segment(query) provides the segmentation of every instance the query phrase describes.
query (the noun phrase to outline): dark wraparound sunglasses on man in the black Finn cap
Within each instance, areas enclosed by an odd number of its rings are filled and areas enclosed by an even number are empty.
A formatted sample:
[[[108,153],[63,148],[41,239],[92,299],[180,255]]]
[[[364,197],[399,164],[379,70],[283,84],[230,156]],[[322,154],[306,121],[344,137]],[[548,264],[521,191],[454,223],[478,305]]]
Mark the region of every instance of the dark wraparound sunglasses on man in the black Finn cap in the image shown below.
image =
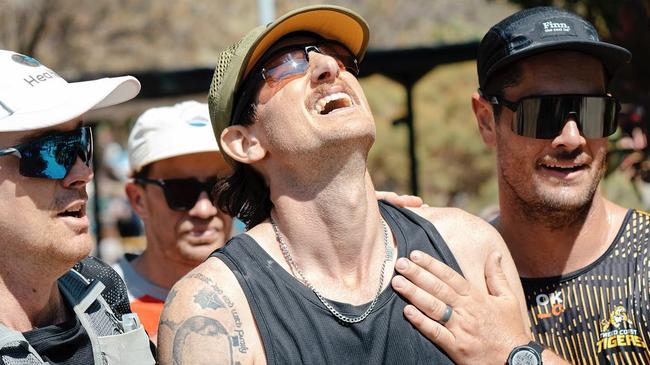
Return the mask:
[[[618,101],[608,95],[540,95],[511,102],[495,96],[490,103],[515,112],[512,131],[520,136],[553,139],[560,135],[569,117],[573,117],[585,138],[604,138],[616,132]]]

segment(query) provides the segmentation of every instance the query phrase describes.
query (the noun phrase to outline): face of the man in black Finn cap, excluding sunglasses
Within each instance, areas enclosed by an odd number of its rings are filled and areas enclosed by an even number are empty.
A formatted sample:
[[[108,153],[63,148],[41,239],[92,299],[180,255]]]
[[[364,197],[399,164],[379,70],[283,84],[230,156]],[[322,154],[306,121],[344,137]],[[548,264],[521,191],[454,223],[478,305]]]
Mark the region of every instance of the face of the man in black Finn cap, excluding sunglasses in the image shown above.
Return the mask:
[[[563,58],[569,62],[549,62],[543,56],[523,62],[524,78],[516,86],[506,88],[506,99],[520,100],[529,95],[545,94],[605,93],[600,62],[573,54]],[[571,62],[572,58],[574,62]],[[513,114],[504,108],[497,123],[496,149],[502,192],[514,197],[524,211],[533,215],[546,216],[550,212],[574,215],[576,211],[588,208],[605,172],[607,138],[585,138],[574,117],[554,139],[521,137],[509,127]],[[575,169],[553,168],[556,166]],[[544,218],[540,221],[548,219]],[[562,221],[564,219],[549,224]],[[570,222],[570,219],[565,221]]]

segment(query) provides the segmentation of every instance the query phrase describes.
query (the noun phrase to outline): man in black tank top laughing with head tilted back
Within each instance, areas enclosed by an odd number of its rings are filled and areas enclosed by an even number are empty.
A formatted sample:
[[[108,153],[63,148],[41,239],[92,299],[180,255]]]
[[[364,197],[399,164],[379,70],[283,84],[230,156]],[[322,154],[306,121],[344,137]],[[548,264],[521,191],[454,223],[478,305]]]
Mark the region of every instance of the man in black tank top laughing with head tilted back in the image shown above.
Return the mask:
[[[529,338],[523,298],[507,289],[516,272],[489,225],[445,209],[434,227],[377,203],[366,168],[375,125],[356,79],[367,43],[357,14],[314,6],[221,53],[209,105],[234,174],[217,201],[250,229],[174,286],[161,363],[450,364],[388,286],[395,259],[422,251],[486,293],[490,272],[502,320],[520,328],[493,341]],[[453,308],[441,309],[454,321]]]

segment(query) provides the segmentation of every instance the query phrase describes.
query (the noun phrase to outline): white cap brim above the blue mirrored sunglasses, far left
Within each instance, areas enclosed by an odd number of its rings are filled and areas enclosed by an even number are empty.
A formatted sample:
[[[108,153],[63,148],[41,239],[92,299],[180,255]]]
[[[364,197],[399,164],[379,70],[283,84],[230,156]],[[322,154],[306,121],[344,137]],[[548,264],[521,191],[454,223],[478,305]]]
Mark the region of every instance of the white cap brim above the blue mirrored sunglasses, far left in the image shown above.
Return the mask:
[[[44,89],[33,95],[29,111],[15,110],[0,120],[0,131],[25,131],[56,126],[84,113],[123,103],[140,92],[140,82],[132,76],[73,82],[60,89]]]

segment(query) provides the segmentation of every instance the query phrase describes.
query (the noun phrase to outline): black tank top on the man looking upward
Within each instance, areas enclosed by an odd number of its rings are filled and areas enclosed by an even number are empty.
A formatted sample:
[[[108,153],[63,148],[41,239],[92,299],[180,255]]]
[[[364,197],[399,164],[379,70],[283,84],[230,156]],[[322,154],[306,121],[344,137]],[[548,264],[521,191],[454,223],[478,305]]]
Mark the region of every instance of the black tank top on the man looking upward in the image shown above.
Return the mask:
[[[399,257],[413,250],[438,258],[460,272],[434,226],[420,216],[380,202],[397,241]],[[339,322],[316,295],[275,262],[250,236],[232,238],[211,256],[235,274],[257,323],[269,365],[453,364],[403,316],[406,302],[389,285],[362,322]],[[374,284],[373,284],[374,285]],[[329,301],[347,316],[368,304]]]

